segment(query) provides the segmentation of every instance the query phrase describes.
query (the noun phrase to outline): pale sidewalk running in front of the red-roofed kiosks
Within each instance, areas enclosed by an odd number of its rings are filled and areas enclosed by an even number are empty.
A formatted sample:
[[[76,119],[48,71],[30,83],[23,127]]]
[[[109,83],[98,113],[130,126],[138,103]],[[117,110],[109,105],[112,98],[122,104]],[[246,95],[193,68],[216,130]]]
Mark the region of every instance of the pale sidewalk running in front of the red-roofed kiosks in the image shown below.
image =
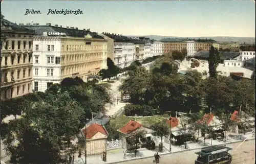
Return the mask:
[[[255,139],[255,137],[252,137],[252,132],[247,132],[246,134],[242,134],[242,140],[240,139],[240,134],[236,134],[233,136],[227,136],[226,137],[226,142],[222,140],[214,140],[212,139],[212,145],[224,145],[224,144],[230,144],[230,143],[236,143],[236,142],[242,142],[243,140],[250,140],[250,139]],[[185,146],[174,146],[172,145],[172,153],[178,153],[182,151],[188,151],[188,150],[194,150],[194,149],[200,149],[203,147],[208,147],[211,144],[211,139],[206,139],[205,140],[206,145],[204,145],[204,140],[203,138],[200,138],[198,143],[193,143],[193,142],[188,142],[187,143],[187,149],[185,149]],[[163,154],[169,154],[169,144],[163,143],[164,150],[163,152],[159,152],[159,155]],[[154,154],[157,152],[155,150],[147,150],[145,148],[138,149],[139,152],[137,153],[137,157],[135,157],[133,154],[126,154],[124,156],[124,152],[117,152],[117,153],[108,153],[106,159],[107,161],[104,162],[101,160],[101,155],[97,156],[88,156],[87,157],[87,164],[106,164],[106,163],[116,163],[116,162],[121,162],[121,161],[126,161],[126,160],[133,160],[133,159],[139,159],[139,158],[148,158],[148,157],[153,157]],[[123,149],[124,151],[124,149]],[[83,159],[83,160],[82,160]],[[82,156],[82,159],[78,158],[75,160],[74,164],[83,164],[84,163],[84,156]]]

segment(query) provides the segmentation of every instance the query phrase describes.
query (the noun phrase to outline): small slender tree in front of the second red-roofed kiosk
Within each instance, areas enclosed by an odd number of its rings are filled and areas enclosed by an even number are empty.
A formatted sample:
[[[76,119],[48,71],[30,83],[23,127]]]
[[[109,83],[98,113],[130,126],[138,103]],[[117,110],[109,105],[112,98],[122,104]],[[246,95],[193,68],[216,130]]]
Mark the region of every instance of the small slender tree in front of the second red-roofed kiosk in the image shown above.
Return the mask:
[[[135,157],[137,154],[137,147],[140,144],[140,138],[144,138],[146,131],[143,128],[137,129],[136,131],[129,134],[129,142],[135,146]]]

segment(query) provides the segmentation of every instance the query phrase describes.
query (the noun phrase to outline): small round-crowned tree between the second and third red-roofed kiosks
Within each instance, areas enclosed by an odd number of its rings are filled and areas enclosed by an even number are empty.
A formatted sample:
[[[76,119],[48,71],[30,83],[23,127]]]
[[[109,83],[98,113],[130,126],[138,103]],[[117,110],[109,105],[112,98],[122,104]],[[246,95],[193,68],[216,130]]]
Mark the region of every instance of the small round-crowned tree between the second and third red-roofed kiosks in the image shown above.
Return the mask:
[[[156,132],[157,136],[161,137],[161,148],[160,150],[162,151],[163,149],[163,136],[169,134],[169,126],[166,123],[166,120],[160,121],[152,125],[152,129]]]

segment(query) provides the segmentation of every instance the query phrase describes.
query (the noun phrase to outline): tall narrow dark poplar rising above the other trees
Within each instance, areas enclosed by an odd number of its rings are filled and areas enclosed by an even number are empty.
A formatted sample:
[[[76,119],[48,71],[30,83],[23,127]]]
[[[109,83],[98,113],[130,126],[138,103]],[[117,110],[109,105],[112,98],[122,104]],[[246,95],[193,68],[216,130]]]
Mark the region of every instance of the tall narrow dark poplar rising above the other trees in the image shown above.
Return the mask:
[[[208,64],[209,64],[209,75],[212,78],[217,78],[217,67],[220,63],[220,55],[218,50],[214,46],[210,46],[209,50],[209,59],[208,59]]]

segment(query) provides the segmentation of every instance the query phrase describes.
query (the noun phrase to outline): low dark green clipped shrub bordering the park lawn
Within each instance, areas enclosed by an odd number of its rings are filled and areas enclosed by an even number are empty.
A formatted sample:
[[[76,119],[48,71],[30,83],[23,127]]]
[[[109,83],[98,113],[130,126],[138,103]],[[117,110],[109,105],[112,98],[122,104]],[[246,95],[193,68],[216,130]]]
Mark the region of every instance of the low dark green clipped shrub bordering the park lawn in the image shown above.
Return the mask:
[[[126,104],[124,106],[124,114],[127,116],[134,116],[137,114],[138,116],[150,116],[155,114],[155,110],[148,105],[133,105]]]

